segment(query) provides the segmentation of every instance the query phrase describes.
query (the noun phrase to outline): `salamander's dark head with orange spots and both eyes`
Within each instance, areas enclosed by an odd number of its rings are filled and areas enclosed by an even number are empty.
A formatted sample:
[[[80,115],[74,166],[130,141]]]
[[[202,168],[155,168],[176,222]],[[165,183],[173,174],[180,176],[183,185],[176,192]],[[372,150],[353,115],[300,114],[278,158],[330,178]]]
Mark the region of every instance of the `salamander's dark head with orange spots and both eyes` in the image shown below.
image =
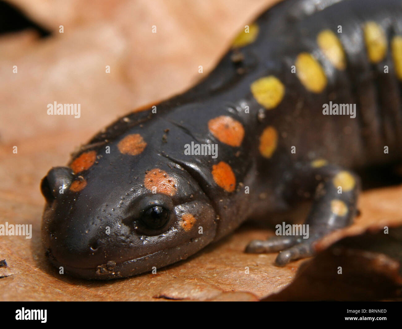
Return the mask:
[[[193,177],[127,136],[109,154],[85,151],[42,180],[43,243],[66,273],[132,276],[185,259],[215,236],[215,212]]]

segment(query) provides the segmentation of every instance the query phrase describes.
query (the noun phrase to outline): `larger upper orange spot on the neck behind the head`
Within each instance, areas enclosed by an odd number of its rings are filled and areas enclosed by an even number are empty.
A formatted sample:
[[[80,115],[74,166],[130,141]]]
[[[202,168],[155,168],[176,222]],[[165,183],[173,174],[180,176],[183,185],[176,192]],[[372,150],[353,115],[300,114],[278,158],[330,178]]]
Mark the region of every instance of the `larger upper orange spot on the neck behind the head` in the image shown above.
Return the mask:
[[[219,141],[230,146],[240,146],[244,137],[243,125],[226,115],[208,121],[208,129]]]

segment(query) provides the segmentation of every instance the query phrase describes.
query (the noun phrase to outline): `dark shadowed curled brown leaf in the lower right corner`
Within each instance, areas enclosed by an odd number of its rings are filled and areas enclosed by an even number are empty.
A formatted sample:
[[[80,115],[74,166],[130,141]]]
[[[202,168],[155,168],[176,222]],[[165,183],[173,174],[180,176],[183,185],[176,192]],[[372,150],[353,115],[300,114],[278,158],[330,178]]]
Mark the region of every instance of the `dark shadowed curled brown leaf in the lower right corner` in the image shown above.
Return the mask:
[[[402,226],[347,236],[304,263],[265,300],[380,300],[402,297]],[[342,273],[339,272],[342,270]]]

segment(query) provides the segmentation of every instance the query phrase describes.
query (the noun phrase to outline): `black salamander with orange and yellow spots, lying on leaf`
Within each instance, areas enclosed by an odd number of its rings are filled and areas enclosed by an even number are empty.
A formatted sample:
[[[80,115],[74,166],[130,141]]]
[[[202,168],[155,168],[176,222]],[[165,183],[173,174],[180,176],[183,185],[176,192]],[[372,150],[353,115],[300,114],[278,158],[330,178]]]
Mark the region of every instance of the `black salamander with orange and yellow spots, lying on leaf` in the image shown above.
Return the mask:
[[[113,279],[170,265],[311,200],[308,236],[250,241],[283,266],[350,225],[356,172],[402,158],[402,2],[287,0],[182,95],[121,117],[41,181],[46,255]],[[306,239],[307,238],[307,239]]]

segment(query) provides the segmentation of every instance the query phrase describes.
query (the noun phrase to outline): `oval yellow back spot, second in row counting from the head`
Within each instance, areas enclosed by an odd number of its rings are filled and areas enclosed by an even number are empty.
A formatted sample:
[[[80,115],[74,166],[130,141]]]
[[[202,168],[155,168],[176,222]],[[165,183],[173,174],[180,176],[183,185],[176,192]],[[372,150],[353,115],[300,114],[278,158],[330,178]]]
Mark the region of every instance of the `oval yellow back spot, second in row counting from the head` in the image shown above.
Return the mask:
[[[303,86],[312,93],[321,93],[327,79],[320,63],[309,53],[299,53],[295,62],[296,74]]]

